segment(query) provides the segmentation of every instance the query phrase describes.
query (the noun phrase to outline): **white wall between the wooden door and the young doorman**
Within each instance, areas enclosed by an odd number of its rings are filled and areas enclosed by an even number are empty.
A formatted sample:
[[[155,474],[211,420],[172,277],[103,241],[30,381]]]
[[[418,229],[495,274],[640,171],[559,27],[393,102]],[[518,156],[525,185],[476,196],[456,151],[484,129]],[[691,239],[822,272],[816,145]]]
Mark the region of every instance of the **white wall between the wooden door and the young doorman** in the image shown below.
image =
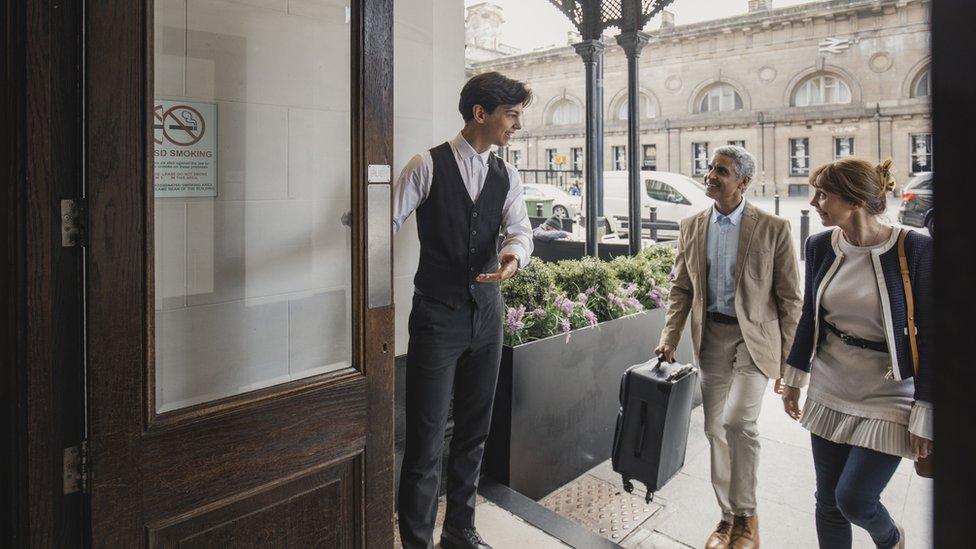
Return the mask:
[[[397,0],[393,12],[393,173],[410,158],[454,137],[464,85],[464,2]],[[396,354],[407,352],[407,319],[420,244],[414,216],[393,242]]]

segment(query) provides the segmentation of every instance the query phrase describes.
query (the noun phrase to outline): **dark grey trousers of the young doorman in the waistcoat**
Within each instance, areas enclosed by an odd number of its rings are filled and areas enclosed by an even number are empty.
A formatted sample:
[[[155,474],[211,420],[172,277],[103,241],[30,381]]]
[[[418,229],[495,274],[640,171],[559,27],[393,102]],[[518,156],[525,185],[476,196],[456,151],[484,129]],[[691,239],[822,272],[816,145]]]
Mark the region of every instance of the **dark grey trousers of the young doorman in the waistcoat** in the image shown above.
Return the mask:
[[[407,348],[406,445],[397,497],[405,548],[433,546],[444,429],[454,399],[445,524],[474,527],[475,497],[502,351],[501,295],[453,309],[415,295]]]

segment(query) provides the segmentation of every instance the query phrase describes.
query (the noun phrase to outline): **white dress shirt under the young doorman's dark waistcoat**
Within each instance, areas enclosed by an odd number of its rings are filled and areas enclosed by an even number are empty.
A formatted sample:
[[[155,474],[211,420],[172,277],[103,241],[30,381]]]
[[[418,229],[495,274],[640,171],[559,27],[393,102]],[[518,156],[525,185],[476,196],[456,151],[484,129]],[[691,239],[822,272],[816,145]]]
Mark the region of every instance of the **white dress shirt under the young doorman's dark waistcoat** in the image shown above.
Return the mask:
[[[491,151],[478,153],[460,133],[450,144],[464,186],[468,189],[471,201],[475,202],[488,178],[488,157]],[[519,177],[518,170],[508,162],[505,162],[505,168],[508,171],[509,188],[502,207],[501,233],[505,235],[505,240],[500,253],[515,254],[519,266],[524,267],[529,264],[532,256],[532,225],[522,198],[522,178]],[[404,166],[393,187],[394,233],[400,231],[403,222],[427,199],[433,180],[434,161],[430,151],[415,155]]]

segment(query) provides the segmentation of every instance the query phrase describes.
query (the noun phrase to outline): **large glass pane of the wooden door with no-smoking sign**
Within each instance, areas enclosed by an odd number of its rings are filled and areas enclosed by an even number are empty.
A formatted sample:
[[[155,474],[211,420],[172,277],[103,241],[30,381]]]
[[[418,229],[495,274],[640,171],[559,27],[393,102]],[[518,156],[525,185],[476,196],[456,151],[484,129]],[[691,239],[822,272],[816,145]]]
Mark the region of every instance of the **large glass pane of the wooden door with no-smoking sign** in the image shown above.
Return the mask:
[[[156,0],[159,413],[349,366],[350,24],[332,0]]]

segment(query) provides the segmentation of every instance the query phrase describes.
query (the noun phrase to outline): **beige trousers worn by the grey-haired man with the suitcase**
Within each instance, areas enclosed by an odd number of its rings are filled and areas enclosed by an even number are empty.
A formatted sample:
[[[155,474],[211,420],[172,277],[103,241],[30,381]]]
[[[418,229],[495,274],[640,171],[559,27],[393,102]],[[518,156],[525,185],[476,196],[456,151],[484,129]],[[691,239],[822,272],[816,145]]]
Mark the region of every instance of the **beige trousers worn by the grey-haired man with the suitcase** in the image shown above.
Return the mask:
[[[756,514],[756,473],[763,392],[769,378],[756,367],[736,324],[705,321],[701,360],[705,436],[712,487],[726,520]]]

